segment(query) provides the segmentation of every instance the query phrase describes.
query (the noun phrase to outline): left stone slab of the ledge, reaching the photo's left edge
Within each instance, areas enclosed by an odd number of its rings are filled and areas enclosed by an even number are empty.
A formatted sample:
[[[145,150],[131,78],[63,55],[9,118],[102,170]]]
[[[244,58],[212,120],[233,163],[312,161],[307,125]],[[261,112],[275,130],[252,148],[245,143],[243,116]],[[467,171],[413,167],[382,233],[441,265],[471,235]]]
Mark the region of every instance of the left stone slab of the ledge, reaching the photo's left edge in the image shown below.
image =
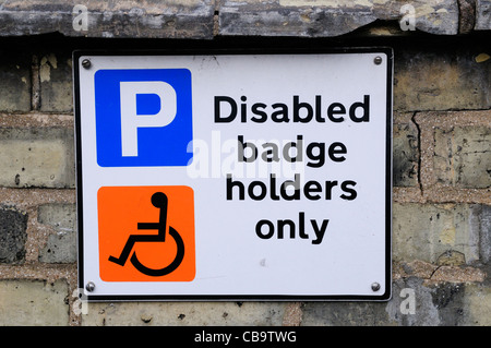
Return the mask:
[[[0,35],[209,38],[211,0],[4,1]]]

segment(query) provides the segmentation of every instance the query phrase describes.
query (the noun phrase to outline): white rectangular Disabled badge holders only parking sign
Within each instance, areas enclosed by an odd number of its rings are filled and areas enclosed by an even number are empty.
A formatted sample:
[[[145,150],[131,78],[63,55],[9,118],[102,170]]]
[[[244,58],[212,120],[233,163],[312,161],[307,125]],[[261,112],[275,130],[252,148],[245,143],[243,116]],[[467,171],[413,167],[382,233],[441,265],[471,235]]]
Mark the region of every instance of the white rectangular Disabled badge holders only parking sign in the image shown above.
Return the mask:
[[[88,300],[391,297],[391,49],[73,67]]]

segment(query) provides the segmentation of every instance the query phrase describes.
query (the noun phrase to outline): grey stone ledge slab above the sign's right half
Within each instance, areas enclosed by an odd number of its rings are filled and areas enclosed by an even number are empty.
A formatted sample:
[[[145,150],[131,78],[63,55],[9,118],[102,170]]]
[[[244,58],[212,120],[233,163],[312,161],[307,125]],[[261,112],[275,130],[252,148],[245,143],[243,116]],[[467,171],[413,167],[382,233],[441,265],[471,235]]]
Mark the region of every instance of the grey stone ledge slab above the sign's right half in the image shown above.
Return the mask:
[[[457,1],[418,0],[410,9],[403,9],[403,4],[391,0],[226,0],[219,8],[219,34],[338,36],[376,20],[406,21],[408,16],[412,17],[412,29],[458,33]]]

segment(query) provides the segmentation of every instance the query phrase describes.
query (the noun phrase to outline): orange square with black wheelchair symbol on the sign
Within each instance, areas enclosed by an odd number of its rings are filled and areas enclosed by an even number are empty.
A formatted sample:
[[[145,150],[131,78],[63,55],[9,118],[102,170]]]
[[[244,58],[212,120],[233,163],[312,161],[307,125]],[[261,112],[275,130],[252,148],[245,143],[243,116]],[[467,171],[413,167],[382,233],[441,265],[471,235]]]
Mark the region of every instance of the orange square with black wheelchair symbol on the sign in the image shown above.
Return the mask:
[[[97,192],[105,281],[191,281],[194,195],[189,187],[103,187]]]

